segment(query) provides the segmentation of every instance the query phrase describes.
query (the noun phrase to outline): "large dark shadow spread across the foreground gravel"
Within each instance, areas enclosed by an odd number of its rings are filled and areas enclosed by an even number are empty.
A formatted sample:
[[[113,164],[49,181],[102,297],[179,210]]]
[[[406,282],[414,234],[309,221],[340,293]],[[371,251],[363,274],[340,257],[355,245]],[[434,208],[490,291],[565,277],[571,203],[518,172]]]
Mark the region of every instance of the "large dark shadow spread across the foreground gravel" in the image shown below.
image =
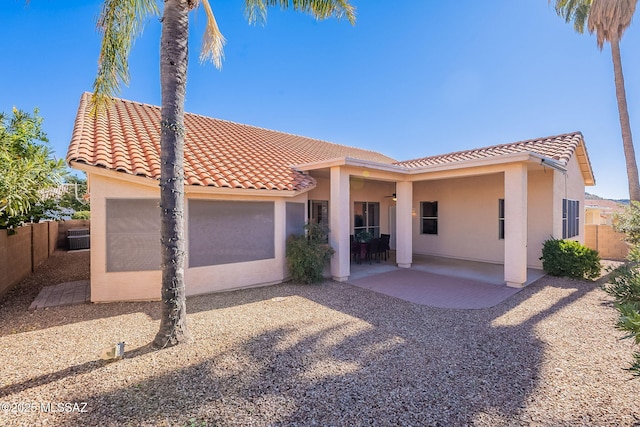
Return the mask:
[[[472,425],[486,414],[517,420],[543,360],[535,326],[599,286],[547,282],[485,310],[435,309],[337,283],[194,298],[190,305],[200,311],[235,306],[238,298],[249,304],[266,295],[296,295],[341,320],[318,330],[312,320],[292,319],[215,358],[136,386],[76,394],[72,399],[93,402],[91,413],[65,421]],[[547,287],[562,295],[552,305],[520,323],[495,324]]]

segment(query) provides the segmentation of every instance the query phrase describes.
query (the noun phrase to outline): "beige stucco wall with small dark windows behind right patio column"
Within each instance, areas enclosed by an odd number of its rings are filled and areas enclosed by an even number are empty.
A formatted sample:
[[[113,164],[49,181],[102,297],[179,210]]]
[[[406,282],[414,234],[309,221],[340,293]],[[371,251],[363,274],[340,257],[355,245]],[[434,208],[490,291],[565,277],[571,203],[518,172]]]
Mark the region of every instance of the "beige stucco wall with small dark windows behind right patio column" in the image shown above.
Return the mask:
[[[528,171],[527,265],[541,268],[542,244],[553,234],[551,189],[556,172]],[[504,194],[504,174],[492,173],[414,183],[413,251],[484,262],[504,262],[504,240],[498,238],[498,199]],[[438,234],[420,233],[420,202],[438,201]],[[560,209],[562,205],[560,204]],[[561,219],[560,212],[560,219]],[[518,218],[505,218],[505,221]]]

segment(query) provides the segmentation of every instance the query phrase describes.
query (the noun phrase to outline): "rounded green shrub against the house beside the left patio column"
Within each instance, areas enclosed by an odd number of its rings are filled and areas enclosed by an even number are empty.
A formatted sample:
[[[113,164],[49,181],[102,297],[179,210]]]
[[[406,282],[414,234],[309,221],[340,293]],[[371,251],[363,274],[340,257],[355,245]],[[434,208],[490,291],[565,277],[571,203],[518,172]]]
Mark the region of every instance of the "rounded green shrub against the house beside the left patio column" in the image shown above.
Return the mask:
[[[291,235],[287,239],[287,265],[291,278],[300,283],[321,282],[325,265],[334,250],[327,241],[328,231],[319,224],[305,225],[305,234]]]

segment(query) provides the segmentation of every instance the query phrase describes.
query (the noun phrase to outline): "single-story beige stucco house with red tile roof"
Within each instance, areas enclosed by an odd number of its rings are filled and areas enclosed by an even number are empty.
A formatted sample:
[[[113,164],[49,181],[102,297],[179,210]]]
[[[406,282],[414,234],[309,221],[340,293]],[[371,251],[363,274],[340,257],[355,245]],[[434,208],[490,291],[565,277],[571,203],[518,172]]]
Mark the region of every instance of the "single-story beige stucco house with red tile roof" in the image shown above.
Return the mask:
[[[90,99],[67,161],[91,194],[91,299],[158,299],[160,108],[116,99],[94,117]],[[579,132],[399,162],[196,114],[185,126],[188,295],[286,280],[286,238],[306,221],[328,224],[338,281],[362,231],[391,234],[400,267],[414,254],[503,264],[516,287],[545,240],[584,239],[595,181]]]

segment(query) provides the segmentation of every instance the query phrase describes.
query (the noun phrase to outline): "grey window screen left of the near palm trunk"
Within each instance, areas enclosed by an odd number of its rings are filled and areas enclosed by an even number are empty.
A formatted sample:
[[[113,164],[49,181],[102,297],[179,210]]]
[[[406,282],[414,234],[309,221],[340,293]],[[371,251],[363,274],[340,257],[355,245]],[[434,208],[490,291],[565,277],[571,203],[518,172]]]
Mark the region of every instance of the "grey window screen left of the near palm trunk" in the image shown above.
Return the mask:
[[[160,269],[159,203],[107,199],[107,272]]]

